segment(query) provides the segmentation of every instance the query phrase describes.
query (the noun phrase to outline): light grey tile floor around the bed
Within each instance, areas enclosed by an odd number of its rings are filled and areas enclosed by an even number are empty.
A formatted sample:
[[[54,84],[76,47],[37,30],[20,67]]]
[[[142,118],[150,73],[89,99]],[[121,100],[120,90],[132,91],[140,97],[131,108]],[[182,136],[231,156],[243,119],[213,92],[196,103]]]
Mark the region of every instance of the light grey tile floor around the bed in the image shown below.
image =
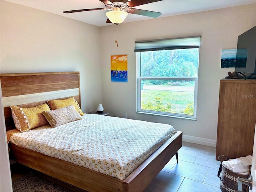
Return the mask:
[[[215,147],[183,142],[178,151],[144,192],[221,192],[217,177],[220,162],[215,160]],[[11,165],[12,180],[30,171]]]

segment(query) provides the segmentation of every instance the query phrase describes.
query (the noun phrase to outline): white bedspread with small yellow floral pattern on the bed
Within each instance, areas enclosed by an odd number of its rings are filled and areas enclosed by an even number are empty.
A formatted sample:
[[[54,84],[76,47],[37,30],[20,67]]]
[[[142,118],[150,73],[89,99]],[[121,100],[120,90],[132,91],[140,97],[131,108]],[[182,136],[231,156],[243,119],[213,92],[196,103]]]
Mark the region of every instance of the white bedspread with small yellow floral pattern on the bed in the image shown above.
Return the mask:
[[[168,124],[97,114],[15,133],[11,143],[123,180],[175,134]]]

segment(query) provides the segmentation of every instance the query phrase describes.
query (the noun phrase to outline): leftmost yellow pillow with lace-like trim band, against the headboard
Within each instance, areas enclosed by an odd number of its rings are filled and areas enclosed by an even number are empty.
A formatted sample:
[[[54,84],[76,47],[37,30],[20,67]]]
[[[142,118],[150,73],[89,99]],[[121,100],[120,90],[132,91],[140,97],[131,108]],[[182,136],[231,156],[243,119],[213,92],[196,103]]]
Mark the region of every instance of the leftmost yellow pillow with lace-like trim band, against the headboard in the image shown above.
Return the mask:
[[[21,108],[14,105],[10,107],[15,127],[21,132],[48,124],[48,121],[42,114],[42,111],[50,111],[50,108],[46,103],[29,108]]]

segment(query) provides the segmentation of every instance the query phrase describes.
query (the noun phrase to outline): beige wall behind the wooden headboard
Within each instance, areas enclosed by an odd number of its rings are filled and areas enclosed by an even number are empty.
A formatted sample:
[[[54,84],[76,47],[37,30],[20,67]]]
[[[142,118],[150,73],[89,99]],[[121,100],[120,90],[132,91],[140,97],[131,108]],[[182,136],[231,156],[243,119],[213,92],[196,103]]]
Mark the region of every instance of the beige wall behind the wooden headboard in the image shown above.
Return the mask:
[[[82,110],[95,110],[102,102],[100,28],[0,2],[0,72],[80,71]]]

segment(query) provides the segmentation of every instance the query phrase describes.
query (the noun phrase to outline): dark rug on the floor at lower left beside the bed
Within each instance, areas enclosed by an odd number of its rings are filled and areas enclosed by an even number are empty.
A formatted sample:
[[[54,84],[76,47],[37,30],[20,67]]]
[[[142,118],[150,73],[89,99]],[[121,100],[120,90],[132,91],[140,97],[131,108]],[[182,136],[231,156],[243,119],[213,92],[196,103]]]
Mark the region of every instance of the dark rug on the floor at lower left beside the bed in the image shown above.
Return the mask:
[[[13,192],[72,192],[32,172],[12,182]]]

